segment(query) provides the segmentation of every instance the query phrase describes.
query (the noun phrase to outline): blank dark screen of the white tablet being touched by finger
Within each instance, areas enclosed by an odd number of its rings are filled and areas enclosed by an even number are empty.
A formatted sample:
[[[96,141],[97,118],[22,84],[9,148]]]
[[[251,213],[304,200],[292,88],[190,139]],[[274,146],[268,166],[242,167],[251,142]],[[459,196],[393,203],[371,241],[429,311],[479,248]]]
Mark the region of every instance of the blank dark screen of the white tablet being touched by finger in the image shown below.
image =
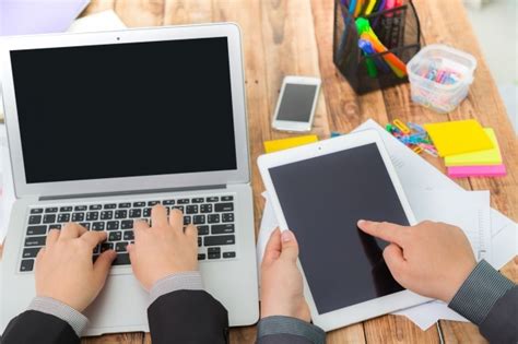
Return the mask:
[[[384,261],[388,244],[356,226],[409,225],[375,143],[269,170],[320,315],[403,289]]]

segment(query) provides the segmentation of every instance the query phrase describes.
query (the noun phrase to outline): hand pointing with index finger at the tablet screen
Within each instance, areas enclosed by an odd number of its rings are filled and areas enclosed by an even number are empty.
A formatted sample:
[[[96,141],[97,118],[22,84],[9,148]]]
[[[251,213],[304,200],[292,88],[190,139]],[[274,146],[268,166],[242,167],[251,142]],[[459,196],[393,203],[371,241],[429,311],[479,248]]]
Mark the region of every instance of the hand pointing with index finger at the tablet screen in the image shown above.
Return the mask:
[[[358,227],[391,242],[385,261],[396,281],[423,296],[449,303],[476,265],[463,232],[429,221],[405,227],[390,223],[358,221]]]

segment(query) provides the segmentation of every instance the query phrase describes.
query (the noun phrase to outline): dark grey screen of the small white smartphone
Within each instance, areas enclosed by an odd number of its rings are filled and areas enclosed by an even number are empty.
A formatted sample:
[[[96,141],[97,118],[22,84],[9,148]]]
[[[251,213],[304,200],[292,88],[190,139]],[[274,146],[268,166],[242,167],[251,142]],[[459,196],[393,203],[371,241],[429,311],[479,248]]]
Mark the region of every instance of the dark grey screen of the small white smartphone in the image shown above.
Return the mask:
[[[317,85],[286,83],[276,119],[308,122],[316,93]]]

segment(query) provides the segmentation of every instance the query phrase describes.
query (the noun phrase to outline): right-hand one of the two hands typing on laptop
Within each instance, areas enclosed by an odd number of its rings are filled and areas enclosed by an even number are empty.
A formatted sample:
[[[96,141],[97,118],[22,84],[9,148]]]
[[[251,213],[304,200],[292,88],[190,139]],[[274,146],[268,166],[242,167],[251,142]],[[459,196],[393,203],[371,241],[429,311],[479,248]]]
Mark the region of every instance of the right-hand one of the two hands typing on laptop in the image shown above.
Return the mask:
[[[183,213],[174,209],[167,216],[163,205],[152,209],[151,223],[150,228],[145,221],[136,221],[134,244],[127,247],[133,273],[146,290],[167,275],[198,270],[196,226],[184,230]]]

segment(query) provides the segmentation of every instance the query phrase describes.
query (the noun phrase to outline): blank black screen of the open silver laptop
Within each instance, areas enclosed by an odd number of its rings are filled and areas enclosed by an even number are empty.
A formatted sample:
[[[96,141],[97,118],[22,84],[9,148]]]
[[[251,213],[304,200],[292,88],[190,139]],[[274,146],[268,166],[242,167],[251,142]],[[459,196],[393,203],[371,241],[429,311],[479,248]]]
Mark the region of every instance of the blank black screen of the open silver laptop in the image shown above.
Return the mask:
[[[11,51],[27,183],[235,170],[226,37]]]

